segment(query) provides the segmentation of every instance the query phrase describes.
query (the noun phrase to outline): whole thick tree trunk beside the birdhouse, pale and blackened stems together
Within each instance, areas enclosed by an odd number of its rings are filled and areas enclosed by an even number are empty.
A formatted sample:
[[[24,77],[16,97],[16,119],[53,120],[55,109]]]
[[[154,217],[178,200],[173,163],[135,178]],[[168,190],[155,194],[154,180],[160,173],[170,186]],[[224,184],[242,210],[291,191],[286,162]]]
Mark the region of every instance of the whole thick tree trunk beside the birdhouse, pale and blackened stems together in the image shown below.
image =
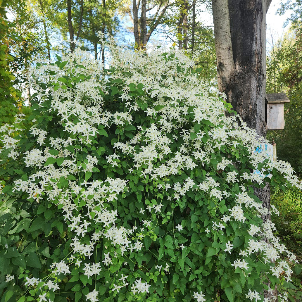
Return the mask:
[[[266,12],[271,0],[212,0],[218,87],[233,109],[265,137]],[[270,187],[254,188],[270,210]],[[262,217],[263,221],[270,215]],[[267,291],[265,297],[271,297]],[[273,295],[276,295],[276,289]]]

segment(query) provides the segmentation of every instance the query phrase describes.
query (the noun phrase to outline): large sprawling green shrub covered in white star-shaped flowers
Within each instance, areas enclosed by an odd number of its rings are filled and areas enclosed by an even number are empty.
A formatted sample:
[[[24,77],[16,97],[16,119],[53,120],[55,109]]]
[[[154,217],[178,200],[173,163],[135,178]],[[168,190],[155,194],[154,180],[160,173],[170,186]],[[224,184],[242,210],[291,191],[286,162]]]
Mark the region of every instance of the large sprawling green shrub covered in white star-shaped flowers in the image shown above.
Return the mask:
[[[293,287],[300,267],[251,186],[301,187],[290,165],[254,152],[255,132],[181,51],[108,47],[110,69],[78,50],[37,63],[33,127],[1,127],[5,302],[263,301],[268,280]]]

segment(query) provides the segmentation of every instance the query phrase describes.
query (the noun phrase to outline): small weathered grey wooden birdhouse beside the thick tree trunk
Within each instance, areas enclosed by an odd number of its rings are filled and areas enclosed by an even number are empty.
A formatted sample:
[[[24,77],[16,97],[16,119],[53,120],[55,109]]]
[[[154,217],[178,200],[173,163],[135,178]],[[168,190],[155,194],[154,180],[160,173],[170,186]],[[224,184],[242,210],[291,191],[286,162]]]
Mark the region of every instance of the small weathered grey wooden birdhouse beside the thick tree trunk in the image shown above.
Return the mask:
[[[289,103],[285,93],[267,93],[266,103],[266,124],[267,130],[284,129],[284,103]]]

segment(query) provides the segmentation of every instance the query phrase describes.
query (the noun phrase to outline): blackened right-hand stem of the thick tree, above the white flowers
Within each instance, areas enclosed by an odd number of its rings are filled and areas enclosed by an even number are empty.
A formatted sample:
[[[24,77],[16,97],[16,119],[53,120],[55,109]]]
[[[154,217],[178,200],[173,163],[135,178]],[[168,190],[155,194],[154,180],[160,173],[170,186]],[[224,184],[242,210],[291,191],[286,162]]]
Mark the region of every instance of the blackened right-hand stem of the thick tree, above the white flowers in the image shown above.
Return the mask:
[[[229,14],[235,68],[225,93],[243,121],[265,137],[265,10],[261,0],[229,0]]]

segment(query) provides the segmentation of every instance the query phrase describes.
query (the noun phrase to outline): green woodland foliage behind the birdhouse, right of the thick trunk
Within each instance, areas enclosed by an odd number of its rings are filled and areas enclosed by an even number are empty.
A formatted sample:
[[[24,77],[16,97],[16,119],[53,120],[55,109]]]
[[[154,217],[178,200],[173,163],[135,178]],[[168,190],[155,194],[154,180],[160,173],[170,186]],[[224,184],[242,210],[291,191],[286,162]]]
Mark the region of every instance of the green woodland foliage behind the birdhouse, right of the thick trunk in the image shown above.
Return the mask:
[[[273,47],[267,58],[268,93],[286,92],[290,103],[284,105],[284,130],[268,131],[277,143],[277,157],[291,163],[302,173],[302,39],[292,29]]]

